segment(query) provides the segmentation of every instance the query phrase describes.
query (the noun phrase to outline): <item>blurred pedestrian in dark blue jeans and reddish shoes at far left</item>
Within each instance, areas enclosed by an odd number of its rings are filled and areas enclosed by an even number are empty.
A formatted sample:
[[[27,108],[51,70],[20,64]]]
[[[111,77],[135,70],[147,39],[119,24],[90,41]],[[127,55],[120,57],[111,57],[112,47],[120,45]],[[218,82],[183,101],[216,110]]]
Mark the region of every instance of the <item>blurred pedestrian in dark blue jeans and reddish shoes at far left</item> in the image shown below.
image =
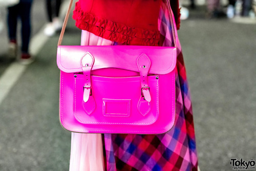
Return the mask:
[[[29,41],[31,34],[31,6],[32,0],[20,0],[17,5],[8,7],[7,23],[9,35],[9,55],[17,56],[17,20],[20,18],[22,22],[22,53],[19,62],[29,64],[33,61],[29,54]]]

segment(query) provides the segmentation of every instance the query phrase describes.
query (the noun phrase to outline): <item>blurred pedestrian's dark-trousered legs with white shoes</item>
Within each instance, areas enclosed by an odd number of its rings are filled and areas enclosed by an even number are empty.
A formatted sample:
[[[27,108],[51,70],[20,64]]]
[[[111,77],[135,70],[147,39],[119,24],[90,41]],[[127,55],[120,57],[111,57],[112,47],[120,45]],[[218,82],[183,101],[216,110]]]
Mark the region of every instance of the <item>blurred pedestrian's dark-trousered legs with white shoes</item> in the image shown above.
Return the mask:
[[[45,28],[47,36],[53,36],[56,31],[60,30],[62,24],[59,20],[61,0],[46,0],[48,24]]]

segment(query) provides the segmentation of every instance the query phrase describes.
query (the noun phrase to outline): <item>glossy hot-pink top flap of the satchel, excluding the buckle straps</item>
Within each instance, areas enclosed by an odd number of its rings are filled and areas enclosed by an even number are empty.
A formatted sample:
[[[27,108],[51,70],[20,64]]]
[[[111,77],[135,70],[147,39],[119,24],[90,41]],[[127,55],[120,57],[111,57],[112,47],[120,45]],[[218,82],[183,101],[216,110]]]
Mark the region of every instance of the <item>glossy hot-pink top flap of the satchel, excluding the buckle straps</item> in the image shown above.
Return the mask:
[[[117,68],[139,72],[137,58],[145,54],[151,60],[148,73],[167,74],[176,66],[175,47],[149,46],[58,46],[57,65],[66,73],[82,72],[81,57],[90,52],[95,61],[92,70]]]

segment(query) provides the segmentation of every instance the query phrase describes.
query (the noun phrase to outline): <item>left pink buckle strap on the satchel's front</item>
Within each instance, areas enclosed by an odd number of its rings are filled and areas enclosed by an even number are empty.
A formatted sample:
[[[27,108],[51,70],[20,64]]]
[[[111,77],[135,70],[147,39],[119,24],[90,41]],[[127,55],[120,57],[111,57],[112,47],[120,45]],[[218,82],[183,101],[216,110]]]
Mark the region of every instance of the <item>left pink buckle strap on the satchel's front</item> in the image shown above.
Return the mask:
[[[90,52],[87,52],[81,57],[80,65],[84,77],[84,86],[83,86],[83,101],[87,102],[89,97],[92,96],[91,89],[91,70],[94,64],[94,57]]]

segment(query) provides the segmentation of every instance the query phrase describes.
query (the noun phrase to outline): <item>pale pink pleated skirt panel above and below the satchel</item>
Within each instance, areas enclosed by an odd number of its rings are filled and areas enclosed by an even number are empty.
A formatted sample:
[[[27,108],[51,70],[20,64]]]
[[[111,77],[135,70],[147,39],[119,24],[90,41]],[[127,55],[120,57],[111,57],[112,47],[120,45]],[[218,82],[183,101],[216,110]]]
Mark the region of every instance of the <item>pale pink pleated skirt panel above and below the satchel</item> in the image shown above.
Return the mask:
[[[107,46],[113,41],[82,30],[82,46]],[[104,170],[103,146],[101,134],[71,134],[70,171]]]

